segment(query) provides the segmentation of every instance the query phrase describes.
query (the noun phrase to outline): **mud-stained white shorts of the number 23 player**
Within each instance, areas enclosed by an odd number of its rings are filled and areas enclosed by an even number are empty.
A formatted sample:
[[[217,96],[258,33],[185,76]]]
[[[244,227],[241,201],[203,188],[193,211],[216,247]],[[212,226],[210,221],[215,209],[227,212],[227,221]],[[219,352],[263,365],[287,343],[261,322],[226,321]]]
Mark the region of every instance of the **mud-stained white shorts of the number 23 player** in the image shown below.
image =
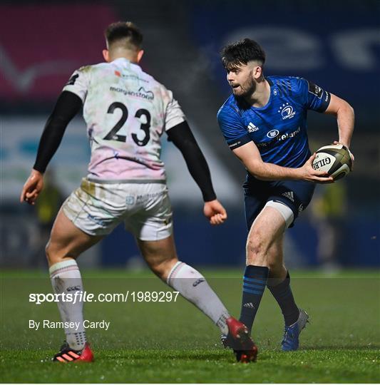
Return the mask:
[[[95,183],[83,178],[62,208],[89,235],[107,235],[122,221],[139,240],[163,240],[173,231],[168,187],[163,183]]]

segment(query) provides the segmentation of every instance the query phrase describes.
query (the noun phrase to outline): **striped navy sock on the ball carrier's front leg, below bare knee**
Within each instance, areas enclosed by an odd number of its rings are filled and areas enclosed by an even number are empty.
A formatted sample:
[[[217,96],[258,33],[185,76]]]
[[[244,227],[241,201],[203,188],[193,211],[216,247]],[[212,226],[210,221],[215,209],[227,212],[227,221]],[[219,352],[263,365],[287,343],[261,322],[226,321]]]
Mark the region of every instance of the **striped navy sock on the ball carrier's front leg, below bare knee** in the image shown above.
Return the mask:
[[[267,285],[268,274],[269,269],[267,267],[252,265],[245,267],[240,322],[250,330]]]

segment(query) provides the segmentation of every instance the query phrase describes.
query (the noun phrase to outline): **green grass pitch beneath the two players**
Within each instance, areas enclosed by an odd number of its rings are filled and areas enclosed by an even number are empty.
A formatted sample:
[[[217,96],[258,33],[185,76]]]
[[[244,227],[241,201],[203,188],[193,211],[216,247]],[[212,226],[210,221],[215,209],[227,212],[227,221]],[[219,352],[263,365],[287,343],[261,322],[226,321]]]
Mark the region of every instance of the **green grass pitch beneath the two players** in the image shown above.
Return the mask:
[[[232,314],[240,310],[241,272],[203,270]],[[255,364],[238,364],[222,349],[220,333],[182,298],[170,303],[85,305],[86,319],[111,322],[108,331],[88,330],[96,361],[50,361],[64,339],[61,329],[29,329],[29,319],[58,321],[56,304],[29,303],[31,292],[51,292],[46,274],[3,272],[1,278],[2,382],[269,383],[380,381],[379,272],[292,274],[297,302],[311,323],[299,351],[279,350],[282,315],[265,292],[255,321],[260,354]],[[167,290],[149,272],[84,272],[88,292]]]

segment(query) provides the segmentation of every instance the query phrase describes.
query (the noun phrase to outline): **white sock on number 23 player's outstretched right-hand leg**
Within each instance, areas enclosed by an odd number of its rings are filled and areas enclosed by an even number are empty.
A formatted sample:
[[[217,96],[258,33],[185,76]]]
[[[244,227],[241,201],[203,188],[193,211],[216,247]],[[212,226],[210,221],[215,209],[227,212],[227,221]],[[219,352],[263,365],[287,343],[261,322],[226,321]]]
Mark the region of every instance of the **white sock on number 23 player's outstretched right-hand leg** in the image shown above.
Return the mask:
[[[228,334],[226,319],[230,314],[200,272],[184,262],[177,262],[166,283],[210,317],[223,334]]]

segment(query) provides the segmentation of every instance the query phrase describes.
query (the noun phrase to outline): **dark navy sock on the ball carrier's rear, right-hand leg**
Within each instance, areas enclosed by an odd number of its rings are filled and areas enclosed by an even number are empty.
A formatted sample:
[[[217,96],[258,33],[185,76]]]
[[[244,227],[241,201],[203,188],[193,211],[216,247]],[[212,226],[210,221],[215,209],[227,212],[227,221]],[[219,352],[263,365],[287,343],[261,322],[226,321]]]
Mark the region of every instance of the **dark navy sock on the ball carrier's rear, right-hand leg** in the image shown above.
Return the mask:
[[[287,277],[280,284],[277,284],[276,286],[269,286],[268,284],[268,289],[272,293],[274,299],[276,299],[279,307],[281,307],[285,325],[290,326],[294,324],[294,322],[297,322],[299,308],[294,302],[292,289],[290,289],[289,272],[287,272]]]

